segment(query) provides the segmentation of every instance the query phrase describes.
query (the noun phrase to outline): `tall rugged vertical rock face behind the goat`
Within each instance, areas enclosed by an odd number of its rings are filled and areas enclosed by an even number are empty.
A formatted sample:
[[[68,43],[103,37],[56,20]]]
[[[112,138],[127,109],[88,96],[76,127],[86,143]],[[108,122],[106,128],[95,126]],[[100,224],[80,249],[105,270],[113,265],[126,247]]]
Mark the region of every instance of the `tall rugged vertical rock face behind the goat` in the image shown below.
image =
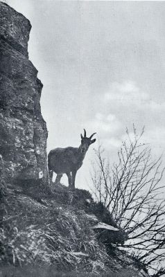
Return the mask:
[[[0,154],[10,184],[48,177],[42,82],[28,60],[30,30],[26,17],[0,3]]]

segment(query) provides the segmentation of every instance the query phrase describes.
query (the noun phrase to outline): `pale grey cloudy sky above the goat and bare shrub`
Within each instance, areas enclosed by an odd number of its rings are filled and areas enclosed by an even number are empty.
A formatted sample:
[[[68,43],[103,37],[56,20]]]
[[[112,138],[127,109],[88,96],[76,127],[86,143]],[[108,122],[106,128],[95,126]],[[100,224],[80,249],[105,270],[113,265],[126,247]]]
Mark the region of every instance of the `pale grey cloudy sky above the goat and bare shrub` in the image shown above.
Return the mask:
[[[47,148],[80,145],[97,133],[116,159],[125,128],[139,132],[153,157],[165,149],[165,2],[6,0],[32,25],[28,52],[42,80]],[[93,144],[78,171],[86,188]],[[164,157],[163,157],[164,159]],[[63,179],[67,184],[67,179]]]

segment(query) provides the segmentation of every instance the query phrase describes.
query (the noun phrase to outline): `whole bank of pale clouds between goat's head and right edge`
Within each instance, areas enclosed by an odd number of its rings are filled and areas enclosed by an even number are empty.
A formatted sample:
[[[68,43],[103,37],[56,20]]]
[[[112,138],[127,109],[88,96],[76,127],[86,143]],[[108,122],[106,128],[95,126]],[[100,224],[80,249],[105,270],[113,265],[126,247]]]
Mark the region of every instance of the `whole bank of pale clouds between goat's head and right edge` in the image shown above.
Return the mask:
[[[133,123],[139,131],[145,125],[141,142],[149,143],[153,154],[161,154],[165,149],[165,102],[158,101],[135,82],[113,82],[100,103],[101,112],[96,113],[87,126],[92,132],[98,133],[103,147],[112,152],[119,149],[121,142],[126,139],[125,127],[130,128],[132,137]]]

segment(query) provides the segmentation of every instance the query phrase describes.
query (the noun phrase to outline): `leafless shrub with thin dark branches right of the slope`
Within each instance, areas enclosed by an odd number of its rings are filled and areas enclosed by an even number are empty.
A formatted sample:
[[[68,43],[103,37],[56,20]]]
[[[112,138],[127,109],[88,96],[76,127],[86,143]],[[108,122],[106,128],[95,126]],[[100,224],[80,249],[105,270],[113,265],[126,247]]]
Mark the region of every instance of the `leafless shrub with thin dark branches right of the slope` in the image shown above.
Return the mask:
[[[141,143],[133,127],[118,152],[118,162],[110,168],[101,146],[92,165],[93,193],[109,209],[128,240],[125,248],[135,253],[149,268],[165,259],[165,202],[162,185],[162,157],[153,159],[150,146]],[[159,270],[159,269],[157,269]],[[161,269],[162,275],[165,273]],[[159,275],[159,276],[162,276]]]

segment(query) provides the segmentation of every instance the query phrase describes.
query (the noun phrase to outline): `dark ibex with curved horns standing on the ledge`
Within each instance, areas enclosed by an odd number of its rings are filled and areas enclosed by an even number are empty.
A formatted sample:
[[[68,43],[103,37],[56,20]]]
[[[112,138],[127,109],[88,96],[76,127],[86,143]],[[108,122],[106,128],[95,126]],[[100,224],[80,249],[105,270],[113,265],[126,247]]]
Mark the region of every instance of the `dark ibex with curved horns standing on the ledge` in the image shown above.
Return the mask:
[[[79,148],[69,146],[67,148],[55,148],[49,152],[48,168],[51,181],[53,178],[53,172],[57,174],[55,184],[60,182],[62,175],[65,173],[68,177],[69,188],[74,190],[76,173],[83,165],[83,159],[85,158],[89,145],[96,141],[96,139],[92,139],[94,134],[87,138],[84,129],[84,136],[81,134],[81,144]]]

